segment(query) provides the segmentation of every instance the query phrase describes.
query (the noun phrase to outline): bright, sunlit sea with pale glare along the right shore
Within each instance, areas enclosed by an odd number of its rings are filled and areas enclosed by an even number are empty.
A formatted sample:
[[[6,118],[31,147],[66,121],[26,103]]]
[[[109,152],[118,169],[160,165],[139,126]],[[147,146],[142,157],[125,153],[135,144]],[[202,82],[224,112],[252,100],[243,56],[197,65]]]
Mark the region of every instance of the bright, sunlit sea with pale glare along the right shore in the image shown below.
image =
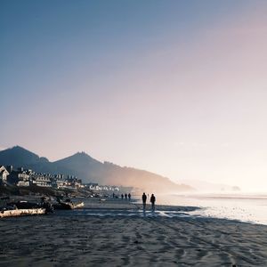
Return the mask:
[[[189,213],[192,216],[267,225],[267,193],[169,194],[156,197],[161,205],[199,207]]]

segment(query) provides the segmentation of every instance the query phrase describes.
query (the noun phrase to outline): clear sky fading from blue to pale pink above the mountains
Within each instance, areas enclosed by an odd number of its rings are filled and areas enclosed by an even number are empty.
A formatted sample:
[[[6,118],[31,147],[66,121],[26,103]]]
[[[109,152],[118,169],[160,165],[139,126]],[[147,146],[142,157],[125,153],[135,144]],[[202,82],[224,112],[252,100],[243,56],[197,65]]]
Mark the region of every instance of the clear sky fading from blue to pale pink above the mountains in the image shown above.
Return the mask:
[[[267,190],[267,2],[0,2],[0,149]]]

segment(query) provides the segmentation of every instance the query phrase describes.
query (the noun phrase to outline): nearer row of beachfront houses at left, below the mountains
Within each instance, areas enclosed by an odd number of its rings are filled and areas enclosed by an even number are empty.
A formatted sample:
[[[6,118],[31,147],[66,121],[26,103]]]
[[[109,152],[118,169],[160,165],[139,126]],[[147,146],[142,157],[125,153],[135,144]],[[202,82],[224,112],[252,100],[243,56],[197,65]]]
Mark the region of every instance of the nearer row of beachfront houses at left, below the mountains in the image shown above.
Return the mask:
[[[0,184],[12,184],[16,186],[42,186],[51,188],[83,188],[82,180],[76,176],[63,174],[36,173],[23,167],[14,169],[12,166],[0,165]]]

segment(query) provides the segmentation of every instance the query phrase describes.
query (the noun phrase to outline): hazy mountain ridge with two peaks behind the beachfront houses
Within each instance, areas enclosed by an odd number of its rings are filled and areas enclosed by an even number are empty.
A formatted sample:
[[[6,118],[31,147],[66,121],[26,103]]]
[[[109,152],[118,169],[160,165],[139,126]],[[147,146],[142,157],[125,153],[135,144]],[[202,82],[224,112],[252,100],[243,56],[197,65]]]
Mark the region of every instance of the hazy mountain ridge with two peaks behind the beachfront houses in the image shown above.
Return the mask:
[[[148,171],[109,162],[101,163],[85,152],[50,162],[47,158],[40,158],[35,153],[16,146],[0,151],[0,165],[23,166],[41,173],[76,175],[83,182],[129,186],[154,192],[192,190],[188,185],[177,184]]]

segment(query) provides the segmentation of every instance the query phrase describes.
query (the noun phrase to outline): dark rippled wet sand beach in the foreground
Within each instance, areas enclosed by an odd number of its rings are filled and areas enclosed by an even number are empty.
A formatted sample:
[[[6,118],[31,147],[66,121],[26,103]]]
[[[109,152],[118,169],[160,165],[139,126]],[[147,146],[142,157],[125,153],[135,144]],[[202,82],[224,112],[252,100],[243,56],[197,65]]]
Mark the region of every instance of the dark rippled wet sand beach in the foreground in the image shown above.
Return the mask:
[[[267,265],[266,225],[188,214],[194,207],[147,208],[89,200],[83,210],[5,218],[0,265]]]

